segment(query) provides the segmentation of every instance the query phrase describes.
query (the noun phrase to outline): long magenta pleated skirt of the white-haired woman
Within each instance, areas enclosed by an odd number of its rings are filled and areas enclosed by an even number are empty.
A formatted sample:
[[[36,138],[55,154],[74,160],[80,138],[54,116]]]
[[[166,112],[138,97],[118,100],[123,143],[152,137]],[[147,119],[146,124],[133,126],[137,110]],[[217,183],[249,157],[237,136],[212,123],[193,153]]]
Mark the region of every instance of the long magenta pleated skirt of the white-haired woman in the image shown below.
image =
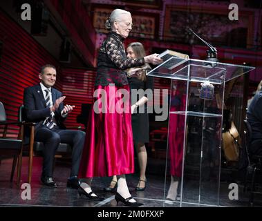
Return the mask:
[[[103,90],[103,93],[101,91]],[[86,130],[86,141],[79,166],[79,177],[104,177],[134,172],[133,133],[129,100],[123,104],[120,91],[129,94],[129,85],[96,86],[95,91],[105,96],[98,107],[103,112],[95,113],[99,98],[94,99]],[[115,95],[116,96],[112,96]],[[109,96],[110,95],[110,96]],[[121,111],[114,111],[118,108]],[[97,109],[95,109],[97,110]],[[110,113],[111,112],[111,113]]]

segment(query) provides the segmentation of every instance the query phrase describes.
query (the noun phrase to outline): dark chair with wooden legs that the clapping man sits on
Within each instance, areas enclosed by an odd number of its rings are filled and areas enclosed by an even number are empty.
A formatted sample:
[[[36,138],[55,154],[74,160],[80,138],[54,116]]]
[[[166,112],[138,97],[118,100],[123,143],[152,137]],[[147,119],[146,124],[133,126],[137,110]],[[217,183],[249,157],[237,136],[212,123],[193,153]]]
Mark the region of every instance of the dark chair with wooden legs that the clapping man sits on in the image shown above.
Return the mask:
[[[30,184],[32,178],[32,160],[34,156],[41,156],[44,148],[42,142],[35,141],[35,123],[26,122],[26,117],[24,113],[24,105],[21,105],[18,113],[19,122],[24,122],[24,150],[28,150],[28,183]],[[77,127],[81,129],[81,126]],[[57,152],[55,154],[55,160],[57,158],[67,158],[71,159],[72,147],[70,144],[60,143]],[[55,165],[55,162],[54,164]]]

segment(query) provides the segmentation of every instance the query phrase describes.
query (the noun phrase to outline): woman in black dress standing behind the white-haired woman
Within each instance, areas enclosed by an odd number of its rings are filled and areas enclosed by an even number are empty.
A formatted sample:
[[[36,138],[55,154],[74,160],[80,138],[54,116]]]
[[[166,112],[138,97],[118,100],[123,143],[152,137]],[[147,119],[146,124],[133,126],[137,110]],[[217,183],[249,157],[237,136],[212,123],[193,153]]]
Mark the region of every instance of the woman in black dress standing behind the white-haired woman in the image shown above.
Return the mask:
[[[133,42],[127,47],[127,57],[136,59],[144,56],[144,47],[140,42]],[[146,70],[150,69],[149,64],[145,64],[141,66],[139,70],[138,67],[127,70],[131,89],[133,142],[138,155],[138,164],[140,166],[140,178],[135,188],[136,191],[144,191],[147,182],[145,175],[147,167],[147,150],[144,143],[149,142],[149,115],[147,113],[147,102],[151,96],[147,96],[147,91],[149,95],[153,95],[153,77],[146,76]],[[137,93],[138,90],[140,90],[140,92],[142,91],[142,94]],[[113,176],[110,186],[106,187],[104,191],[113,191],[116,183],[117,177]]]

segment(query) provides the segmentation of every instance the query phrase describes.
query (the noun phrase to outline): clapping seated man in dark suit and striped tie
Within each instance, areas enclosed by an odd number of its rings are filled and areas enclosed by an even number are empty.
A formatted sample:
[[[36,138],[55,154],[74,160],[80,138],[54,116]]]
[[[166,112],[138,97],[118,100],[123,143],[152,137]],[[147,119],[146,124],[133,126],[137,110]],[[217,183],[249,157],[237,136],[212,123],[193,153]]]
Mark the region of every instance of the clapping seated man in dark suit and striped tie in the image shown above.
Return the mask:
[[[67,186],[77,189],[80,182],[77,178],[79,163],[84,146],[83,131],[66,130],[63,122],[75,106],[66,104],[65,96],[53,88],[56,80],[55,66],[46,64],[41,67],[39,79],[41,82],[24,90],[24,108],[28,121],[36,122],[35,141],[44,143],[44,160],[41,182],[47,186],[57,187],[53,180],[53,160],[59,143],[71,144],[72,169]]]

